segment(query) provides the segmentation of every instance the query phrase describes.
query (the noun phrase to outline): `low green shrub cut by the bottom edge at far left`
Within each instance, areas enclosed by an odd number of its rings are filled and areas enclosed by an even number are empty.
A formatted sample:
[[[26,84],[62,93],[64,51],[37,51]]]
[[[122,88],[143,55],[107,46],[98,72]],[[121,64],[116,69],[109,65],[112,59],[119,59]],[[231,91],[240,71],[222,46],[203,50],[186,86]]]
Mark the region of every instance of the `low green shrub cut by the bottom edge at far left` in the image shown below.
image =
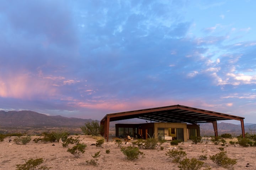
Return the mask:
[[[43,158],[29,159],[24,164],[16,165],[16,170],[49,170],[47,166],[40,166],[43,163]]]

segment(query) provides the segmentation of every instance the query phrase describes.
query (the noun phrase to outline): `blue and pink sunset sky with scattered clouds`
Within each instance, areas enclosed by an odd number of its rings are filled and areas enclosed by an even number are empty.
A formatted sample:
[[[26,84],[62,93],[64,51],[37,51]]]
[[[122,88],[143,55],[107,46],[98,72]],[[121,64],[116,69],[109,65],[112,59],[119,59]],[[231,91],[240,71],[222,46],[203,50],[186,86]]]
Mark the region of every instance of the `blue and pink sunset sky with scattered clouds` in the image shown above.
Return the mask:
[[[0,2],[0,110],[180,104],[256,123],[256,1]]]

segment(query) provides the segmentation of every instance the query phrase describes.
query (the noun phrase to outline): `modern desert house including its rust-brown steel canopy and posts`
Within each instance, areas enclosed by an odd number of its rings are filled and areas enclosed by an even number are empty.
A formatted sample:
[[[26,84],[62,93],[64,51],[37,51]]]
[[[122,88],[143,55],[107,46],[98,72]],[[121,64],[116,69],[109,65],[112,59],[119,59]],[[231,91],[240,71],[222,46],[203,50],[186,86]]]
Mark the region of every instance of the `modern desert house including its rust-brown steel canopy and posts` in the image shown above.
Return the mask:
[[[207,111],[182,105],[107,114],[101,120],[102,136],[108,141],[110,121],[140,118],[150,121],[143,124],[116,124],[116,136],[137,138],[154,137],[165,140],[187,141],[192,136],[200,136],[198,123],[212,123],[214,134],[218,136],[217,120],[239,120],[242,136],[245,137],[244,118],[224,113]],[[153,121],[153,123],[151,123]]]

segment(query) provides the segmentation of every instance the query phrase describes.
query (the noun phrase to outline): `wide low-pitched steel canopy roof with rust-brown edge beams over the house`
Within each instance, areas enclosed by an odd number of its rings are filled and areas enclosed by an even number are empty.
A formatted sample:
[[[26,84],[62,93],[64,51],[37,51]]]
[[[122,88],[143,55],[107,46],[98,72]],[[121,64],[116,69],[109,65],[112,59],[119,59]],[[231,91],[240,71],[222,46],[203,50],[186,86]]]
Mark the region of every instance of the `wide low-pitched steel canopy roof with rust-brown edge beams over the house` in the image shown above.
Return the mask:
[[[182,105],[172,105],[135,111],[107,114],[102,121],[109,117],[110,121],[140,118],[157,122],[171,123],[207,123],[217,120],[241,120],[243,117],[207,111]]]

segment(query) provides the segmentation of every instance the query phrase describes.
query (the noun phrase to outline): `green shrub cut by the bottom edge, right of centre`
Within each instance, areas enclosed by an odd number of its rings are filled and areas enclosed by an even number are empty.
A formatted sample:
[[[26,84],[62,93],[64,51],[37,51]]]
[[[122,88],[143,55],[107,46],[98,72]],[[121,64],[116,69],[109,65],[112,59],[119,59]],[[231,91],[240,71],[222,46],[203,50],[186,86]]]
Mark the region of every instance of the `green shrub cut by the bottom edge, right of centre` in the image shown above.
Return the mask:
[[[196,158],[185,158],[180,161],[178,168],[180,170],[199,170],[203,167],[204,162],[197,160]]]

